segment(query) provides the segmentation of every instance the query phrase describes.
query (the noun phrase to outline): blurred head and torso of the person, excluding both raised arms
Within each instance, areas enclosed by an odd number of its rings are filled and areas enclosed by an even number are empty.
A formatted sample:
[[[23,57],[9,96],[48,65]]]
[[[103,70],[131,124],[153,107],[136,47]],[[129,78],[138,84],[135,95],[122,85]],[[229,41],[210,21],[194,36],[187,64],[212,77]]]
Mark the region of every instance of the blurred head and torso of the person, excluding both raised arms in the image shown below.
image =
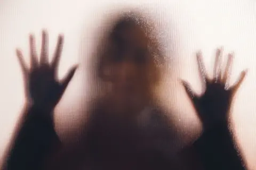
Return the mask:
[[[84,164],[96,169],[179,167],[171,151],[174,132],[154,103],[152,88],[161,72],[149,52],[151,43],[135,18],[124,16],[114,24],[98,70],[111,90],[95,104],[79,144],[68,154],[61,152],[66,158],[53,159],[53,164],[61,164],[53,169]]]

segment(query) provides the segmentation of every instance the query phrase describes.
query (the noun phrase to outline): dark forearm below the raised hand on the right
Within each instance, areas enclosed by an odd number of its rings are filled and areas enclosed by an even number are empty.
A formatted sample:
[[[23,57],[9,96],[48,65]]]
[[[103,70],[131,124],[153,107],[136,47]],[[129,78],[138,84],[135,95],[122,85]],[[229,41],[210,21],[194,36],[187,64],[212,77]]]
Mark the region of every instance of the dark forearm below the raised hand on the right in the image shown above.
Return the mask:
[[[206,130],[194,145],[206,169],[245,169],[226,123]]]

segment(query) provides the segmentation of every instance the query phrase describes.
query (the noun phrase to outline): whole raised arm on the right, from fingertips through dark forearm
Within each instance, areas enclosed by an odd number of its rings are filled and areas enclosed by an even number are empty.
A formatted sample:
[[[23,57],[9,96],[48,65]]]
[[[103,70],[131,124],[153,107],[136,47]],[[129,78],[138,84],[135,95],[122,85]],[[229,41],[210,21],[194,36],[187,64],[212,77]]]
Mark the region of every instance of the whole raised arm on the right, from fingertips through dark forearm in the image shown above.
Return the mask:
[[[203,134],[194,143],[204,169],[245,169],[241,157],[235,148],[233,137],[229,131],[229,111],[235,92],[246,75],[246,70],[240,75],[238,81],[227,88],[230,66],[233,54],[228,55],[226,69],[221,77],[222,48],[217,50],[214,78],[206,74],[201,52],[197,54],[199,73],[205,84],[205,92],[197,96],[190,85],[182,81],[186,92],[191,99],[198,117],[203,123]]]

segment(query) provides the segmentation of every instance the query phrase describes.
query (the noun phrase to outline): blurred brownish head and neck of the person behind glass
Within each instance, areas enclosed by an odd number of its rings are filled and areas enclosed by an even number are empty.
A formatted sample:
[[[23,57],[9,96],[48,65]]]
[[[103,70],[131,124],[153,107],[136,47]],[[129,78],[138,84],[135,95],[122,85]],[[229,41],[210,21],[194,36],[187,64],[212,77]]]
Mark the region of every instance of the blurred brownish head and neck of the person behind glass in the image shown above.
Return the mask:
[[[99,61],[98,75],[111,84],[111,107],[118,112],[138,111],[149,105],[161,69],[158,42],[150,37],[149,26],[139,15],[123,14],[109,33],[105,53]]]

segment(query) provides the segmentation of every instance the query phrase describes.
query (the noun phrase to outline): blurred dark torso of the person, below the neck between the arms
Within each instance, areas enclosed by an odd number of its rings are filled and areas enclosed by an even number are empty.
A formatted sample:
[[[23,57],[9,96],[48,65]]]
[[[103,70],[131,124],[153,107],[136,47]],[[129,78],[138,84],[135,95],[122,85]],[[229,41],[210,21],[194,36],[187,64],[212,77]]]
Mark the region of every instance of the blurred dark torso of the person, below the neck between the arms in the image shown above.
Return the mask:
[[[52,159],[52,169],[185,169],[186,160],[175,155],[175,133],[159,109],[145,107],[137,122],[107,115],[98,107],[79,144]]]

